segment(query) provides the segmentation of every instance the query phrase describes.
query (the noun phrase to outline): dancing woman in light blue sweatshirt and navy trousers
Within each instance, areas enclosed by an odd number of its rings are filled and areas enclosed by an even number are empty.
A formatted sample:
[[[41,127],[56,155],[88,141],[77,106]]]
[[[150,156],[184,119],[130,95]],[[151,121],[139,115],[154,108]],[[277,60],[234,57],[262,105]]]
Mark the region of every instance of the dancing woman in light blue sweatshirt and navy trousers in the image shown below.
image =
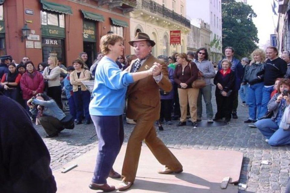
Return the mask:
[[[123,37],[108,34],[101,38],[100,49],[104,57],[95,72],[93,99],[89,112],[99,139],[99,149],[94,176],[89,188],[93,190],[114,191],[107,184],[107,178],[118,177],[112,166],[124,141],[123,110],[127,86],[147,76],[159,74],[161,65],[153,65],[149,70],[129,73],[121,71],[116,64],[118,56],[123,55]],[[139,61],[137,61],[139,62]]]

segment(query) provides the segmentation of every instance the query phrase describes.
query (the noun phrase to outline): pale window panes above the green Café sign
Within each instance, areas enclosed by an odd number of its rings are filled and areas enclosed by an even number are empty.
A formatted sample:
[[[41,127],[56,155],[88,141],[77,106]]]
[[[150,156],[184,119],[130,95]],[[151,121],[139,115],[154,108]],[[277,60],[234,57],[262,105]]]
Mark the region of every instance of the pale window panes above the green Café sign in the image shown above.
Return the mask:
[[[64,28],[64,14],[41,11],[41,25],[54,25]]]

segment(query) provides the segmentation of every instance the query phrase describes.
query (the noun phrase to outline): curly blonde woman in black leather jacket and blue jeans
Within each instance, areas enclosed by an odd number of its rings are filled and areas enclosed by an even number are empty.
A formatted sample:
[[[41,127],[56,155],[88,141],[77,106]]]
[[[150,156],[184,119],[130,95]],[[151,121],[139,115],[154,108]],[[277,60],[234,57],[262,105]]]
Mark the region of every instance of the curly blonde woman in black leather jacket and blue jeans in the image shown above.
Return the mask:
[[[262,105],[262,93],[264,87],[264,72],[266,53],[262,49],[255,49],[251,54],[252,61],[245,67],[243,83],[249,83],[247,87],[247,103],[249,105],[249,119],[245,123],[256,122]]]

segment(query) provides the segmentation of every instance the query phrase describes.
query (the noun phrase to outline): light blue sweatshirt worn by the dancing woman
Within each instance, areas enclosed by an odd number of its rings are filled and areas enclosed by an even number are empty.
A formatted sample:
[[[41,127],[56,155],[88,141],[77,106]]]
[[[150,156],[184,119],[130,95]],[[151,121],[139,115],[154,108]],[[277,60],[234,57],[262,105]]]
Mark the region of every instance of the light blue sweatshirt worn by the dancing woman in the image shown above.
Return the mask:
[[[122,115],[127,86],[133,82],[132,73],[121,71],[115,61],[104,56],[96,68],[90,115]]]

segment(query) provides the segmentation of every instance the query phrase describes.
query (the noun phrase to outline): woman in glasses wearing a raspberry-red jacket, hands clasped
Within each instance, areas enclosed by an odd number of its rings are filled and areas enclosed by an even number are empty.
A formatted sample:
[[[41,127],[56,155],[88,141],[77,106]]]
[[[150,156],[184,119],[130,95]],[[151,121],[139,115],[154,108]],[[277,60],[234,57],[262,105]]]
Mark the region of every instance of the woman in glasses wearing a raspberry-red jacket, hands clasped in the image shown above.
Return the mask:
[[[32,96],[36,96],[37,93],[43,93],[44,81],[40,72],[35,70],[35,67],[31,61],[25,62],[26,72],[22,75],[20,80],[20,87],[22,90],[22,97],[25,101],[26,110],[30,116],[31,112],[27,106],[27,100]]]

